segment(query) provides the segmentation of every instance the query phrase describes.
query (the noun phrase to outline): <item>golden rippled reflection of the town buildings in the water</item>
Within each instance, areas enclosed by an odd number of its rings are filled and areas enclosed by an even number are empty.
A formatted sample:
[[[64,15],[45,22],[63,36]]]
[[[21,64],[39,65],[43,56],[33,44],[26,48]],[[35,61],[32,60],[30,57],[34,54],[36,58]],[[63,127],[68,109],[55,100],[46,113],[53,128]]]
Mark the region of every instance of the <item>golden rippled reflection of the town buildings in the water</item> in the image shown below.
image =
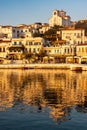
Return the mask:
[[[73,107],[87,112],[87,72],[60,70],[0,70],[0,111],[32,112],[49,108],[60,124],[71,120]]]

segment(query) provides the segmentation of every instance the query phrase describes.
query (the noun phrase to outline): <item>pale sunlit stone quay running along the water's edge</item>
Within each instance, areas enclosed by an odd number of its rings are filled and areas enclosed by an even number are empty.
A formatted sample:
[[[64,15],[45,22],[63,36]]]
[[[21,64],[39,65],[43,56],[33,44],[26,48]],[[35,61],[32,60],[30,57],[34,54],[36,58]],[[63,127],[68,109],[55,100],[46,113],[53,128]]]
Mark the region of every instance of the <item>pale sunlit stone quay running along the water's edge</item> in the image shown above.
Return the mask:
[[[0,69],[65,69],[87,71],[86,64],[0,64]]]

